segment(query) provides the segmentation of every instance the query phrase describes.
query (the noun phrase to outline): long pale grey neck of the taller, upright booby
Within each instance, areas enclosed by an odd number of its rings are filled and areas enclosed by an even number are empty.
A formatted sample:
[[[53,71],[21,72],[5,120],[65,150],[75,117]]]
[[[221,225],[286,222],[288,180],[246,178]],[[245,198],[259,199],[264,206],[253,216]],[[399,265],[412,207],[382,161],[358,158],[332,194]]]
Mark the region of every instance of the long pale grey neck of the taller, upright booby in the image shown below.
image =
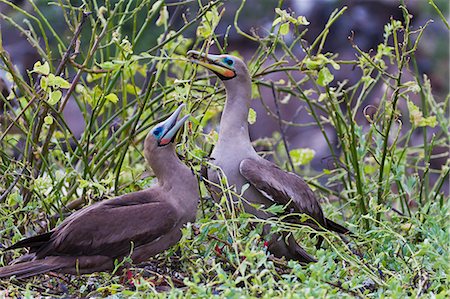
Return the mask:
[[[248,111],[251,99],[251,83],[230,81],[225,83],[227,100],[220,120],[219,143],[250,143]]]

